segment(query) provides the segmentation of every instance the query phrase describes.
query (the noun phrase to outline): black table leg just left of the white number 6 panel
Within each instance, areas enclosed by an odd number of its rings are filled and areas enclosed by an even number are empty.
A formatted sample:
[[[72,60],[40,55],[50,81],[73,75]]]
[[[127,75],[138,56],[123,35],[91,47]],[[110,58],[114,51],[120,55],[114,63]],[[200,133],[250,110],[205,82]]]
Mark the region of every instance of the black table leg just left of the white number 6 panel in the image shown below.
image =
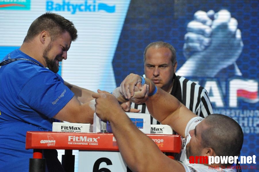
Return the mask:
[[[72,150],[65,150],[65,155],[62,155],[61,164],[66,172],[74,172],[75,155],[72,155]]]

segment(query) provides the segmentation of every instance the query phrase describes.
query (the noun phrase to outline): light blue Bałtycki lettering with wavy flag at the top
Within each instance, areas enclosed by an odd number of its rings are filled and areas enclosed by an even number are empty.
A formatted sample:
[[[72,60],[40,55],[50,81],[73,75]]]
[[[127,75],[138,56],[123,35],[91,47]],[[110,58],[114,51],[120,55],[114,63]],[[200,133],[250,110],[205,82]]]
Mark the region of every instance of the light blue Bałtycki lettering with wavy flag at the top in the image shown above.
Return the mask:
[[[96,0],[85,0],[82,3],[73,3],[73,1],[62,0],[62,3],[55,1],[46,1],[46,11],[69,11],[71,14],[76,12],[115,12],[115,5],[96,2]]]

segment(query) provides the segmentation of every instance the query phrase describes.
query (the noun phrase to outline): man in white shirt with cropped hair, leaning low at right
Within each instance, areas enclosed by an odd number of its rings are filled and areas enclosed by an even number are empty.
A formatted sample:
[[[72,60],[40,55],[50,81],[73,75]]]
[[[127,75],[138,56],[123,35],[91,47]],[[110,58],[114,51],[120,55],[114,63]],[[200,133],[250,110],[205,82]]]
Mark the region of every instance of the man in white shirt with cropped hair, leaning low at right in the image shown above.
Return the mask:
[[[191,164],[188,160],[191,156],[239,156],[243,131],[235,120],[221,114],[197,117],[175,97],[156,87],[151,80],[146,78],[143,82],[139,75],[128,75],[120,89],[125,102],[127,99],[135,103],[145,102],[154,118],[161,124],[170,125],[186,141],[181,162],[168,158],[155,142],[131,122],[113,95],[98,90],[98,93],[92,94],[96,98],[95,112],[101,120],[110,122],[120,153],[132,171],[235,171],[220,168],[230,166],[229,163],[212,163],[210,166],[219,168],[211,169],[208,163],[198,161]]]

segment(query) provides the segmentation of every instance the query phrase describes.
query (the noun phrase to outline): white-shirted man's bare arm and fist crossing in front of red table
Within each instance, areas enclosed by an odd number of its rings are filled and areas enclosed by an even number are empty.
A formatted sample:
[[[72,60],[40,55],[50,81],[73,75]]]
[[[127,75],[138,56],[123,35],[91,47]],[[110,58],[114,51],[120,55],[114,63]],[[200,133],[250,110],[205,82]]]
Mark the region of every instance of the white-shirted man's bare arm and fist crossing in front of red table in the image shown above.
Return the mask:
[[[132,123],[113,95],[93,93],[93,97],[97,98],[96,114],[110,122],[120,153],[132,171],[185,171],[181,163],[166,157],[154,141]]]

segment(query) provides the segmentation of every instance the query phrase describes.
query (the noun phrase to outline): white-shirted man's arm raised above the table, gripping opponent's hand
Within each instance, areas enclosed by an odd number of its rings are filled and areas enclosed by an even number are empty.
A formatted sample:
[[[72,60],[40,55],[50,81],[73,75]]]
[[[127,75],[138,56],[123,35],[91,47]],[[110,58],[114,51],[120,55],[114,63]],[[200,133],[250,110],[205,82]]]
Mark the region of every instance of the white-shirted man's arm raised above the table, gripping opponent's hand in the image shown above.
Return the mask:
[[[135,85],[141,81],[139,75],[130,74],[122,81],[122,94],[134,102],[131,96],[135,94]],[[149,93],[155,89],[155,84],[148,78],[145,83],[149,85]],[[181,104],[174,96],[168,94],[160,88],[155,95],[149,96],[145,103],[151,116],[158,120],[161,124],[170,125],[178,134],[185,137],[185,128],[189,120],[196,115],[187,107]]]

